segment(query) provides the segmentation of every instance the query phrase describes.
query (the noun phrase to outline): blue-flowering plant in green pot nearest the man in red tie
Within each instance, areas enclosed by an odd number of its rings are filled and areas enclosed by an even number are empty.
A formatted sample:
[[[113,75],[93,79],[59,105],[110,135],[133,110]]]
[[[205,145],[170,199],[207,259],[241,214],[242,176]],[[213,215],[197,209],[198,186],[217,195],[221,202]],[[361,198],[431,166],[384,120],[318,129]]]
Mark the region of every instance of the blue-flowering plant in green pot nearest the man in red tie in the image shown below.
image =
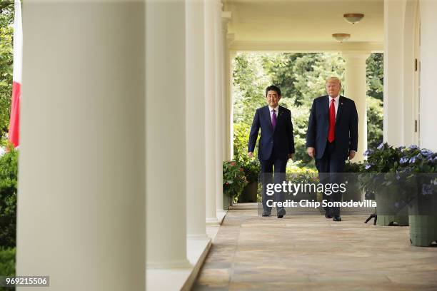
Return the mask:
[[[377,225],[408,225],[408,207],[394,169],[401,150],[381,143],[375,150],[366,150],[367,162],[359,176],[361,188],[371,192],[376,200]]]

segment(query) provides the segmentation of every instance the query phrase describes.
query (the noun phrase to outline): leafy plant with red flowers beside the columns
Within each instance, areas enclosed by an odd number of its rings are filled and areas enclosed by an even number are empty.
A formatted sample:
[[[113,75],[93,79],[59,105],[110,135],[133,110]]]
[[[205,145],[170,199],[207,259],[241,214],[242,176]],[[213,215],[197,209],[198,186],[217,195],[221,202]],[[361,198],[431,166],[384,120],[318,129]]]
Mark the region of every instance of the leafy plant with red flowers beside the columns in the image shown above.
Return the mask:
[[[228,210],[231,200],[238,199],[247,185],[244,170],[235,160],[223,162],[223,208]]]

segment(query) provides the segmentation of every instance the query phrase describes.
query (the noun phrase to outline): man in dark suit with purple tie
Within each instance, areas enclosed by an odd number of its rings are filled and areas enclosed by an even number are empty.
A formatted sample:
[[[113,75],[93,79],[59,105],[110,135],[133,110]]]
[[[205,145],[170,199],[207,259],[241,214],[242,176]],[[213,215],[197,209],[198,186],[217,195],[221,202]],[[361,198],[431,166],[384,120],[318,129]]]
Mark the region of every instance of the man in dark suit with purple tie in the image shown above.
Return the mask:
[[[263,216],[271,215],[271,207],[267,205],[266,183],[271,183],[274,167],[274,182],[285,180],[286,165],[289,158],[293,158],[294,138],[291,111],[279,106],[281,90],[276,86],[266,88],[267,106],[256,109],[251,133],[248,140],[248,156],[253,158],[258,131],[261,128],[261,138],[258,143],[258,159],[261,164],[261,178],[263,180]],[[283,201],[283,193],[275,193],[276,201]],[[283,207],[276,207],[278,218],[283,218],[286,211]]]

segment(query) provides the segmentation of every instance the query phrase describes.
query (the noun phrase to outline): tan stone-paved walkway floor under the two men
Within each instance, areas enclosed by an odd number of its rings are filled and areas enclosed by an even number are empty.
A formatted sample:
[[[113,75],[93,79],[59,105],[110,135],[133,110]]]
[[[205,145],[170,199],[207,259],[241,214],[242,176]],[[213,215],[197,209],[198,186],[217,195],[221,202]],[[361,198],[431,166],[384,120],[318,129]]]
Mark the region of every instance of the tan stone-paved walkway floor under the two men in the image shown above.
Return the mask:
[[[437,247],[413,247],[408,227],[368,215],[262,218],[234,206],[193,290],[437,290]]]

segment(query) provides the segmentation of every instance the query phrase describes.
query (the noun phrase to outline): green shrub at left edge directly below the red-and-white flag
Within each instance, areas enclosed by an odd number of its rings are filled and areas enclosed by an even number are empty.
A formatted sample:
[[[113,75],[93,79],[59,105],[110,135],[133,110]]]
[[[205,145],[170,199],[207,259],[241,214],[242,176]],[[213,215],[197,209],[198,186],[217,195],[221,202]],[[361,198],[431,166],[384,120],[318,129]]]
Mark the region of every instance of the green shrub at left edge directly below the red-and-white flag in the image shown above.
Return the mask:
[[[0,157],[0,247],[15,247],[18,151]]]

